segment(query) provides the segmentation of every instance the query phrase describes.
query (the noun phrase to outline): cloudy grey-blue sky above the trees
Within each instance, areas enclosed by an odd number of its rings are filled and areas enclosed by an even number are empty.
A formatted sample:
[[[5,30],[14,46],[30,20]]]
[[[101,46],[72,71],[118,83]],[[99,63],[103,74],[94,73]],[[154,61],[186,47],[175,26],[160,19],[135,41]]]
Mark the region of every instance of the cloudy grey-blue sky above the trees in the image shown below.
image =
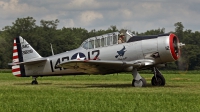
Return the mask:
[[[0,30],[17,18],[58,19],[63,27],[106,30],[111,25],[136,32],[165,28],[200,31],[200,0],[0,0]],[[185,30],[184,29],[184,30]]]

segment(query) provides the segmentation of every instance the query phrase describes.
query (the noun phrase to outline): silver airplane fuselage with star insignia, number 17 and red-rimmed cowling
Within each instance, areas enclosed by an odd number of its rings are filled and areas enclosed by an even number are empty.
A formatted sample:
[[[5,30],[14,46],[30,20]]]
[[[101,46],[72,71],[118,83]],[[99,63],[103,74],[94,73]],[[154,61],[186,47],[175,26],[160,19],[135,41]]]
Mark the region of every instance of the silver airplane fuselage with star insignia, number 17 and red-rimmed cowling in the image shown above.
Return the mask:
[[[103,36],[102,36],[103,37]],[[179,58],[180,51],[176,48],[178,38],[174,34],[156,36],[133,36],[125,43],[102,45],[101,38],[92,38],[85,41],[79,48],[64,53],[52,55],[47,61],[24,65],[26,76],[74,75],[85,74],[76,69],[58,67],[60,63],[70,60],[109,60],[129,62],[141,59],[154,60],[155,65],[175,61]],[[96,40],[99,39],[97,45]],[[107,40],[106,38],[104,38]],[[94,40],[93,47],[85,47]],[[108,41],[105,41],[106,43]],[[89,45],[88,45],[89,46]],[[113,67],[113,73],[127,71],[126,67]],[[110,71],[108,73],[111,73]],[[97,74],[97,73],[95,73]]]

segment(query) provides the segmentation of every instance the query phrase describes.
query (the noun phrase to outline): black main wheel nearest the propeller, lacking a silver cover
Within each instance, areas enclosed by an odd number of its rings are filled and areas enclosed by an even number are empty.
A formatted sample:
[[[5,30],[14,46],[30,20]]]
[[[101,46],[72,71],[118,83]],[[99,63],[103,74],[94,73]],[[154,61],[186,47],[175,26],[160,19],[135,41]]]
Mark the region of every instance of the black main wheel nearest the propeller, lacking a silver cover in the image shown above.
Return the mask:
[[[157,80],[156,80],[157,78]],[[165,78],[163,77],[163,75],[156,75],[152,77],[151,79],[151,84],[153,86],[164,86],[165,85]]]

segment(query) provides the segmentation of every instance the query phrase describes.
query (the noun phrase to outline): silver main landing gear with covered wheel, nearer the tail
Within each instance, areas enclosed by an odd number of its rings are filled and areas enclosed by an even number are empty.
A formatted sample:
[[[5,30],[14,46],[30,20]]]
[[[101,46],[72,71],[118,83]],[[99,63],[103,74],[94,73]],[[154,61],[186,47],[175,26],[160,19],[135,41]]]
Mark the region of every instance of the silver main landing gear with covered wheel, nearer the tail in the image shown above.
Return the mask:
[[[132,75],[133,75],[132,86],[134,87],[146,86],[146,80],[140,76],[140,74],[137,72],[137,69],[133,69]]]

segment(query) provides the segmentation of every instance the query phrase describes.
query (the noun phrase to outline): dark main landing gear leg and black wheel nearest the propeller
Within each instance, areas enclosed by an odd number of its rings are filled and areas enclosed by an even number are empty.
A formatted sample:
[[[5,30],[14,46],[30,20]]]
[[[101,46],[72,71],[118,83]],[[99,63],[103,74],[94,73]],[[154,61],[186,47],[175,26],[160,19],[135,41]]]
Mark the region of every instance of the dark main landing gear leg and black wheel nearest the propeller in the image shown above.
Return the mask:
[[[154,76],[151,79],[151,84],[153,86],[164,86],[165,85],[165,78],[161,74],[161,72],[154,67],[153,68]]]

